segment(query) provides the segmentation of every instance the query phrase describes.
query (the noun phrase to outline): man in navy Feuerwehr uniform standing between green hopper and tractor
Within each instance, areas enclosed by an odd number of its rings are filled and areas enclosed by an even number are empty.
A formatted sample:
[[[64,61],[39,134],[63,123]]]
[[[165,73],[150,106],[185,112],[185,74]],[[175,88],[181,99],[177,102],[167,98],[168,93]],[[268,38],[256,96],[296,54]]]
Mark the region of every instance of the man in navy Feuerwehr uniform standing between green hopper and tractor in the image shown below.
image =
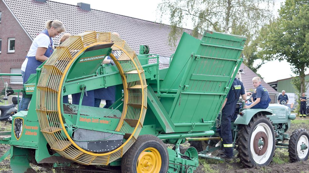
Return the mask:
[[[222,139],[224,150],[221,150],[223,155],[220,158],[225,160],[232,160],[233,158],[233,139],[231,132],[231,119],[235,113],[236,104],[241,95],[242,99],[246,100],[247,94],[242,82],[234,79],[231,89],[229,90],[226,99],[222,105],[221,127],[218,127],[218,133]]]

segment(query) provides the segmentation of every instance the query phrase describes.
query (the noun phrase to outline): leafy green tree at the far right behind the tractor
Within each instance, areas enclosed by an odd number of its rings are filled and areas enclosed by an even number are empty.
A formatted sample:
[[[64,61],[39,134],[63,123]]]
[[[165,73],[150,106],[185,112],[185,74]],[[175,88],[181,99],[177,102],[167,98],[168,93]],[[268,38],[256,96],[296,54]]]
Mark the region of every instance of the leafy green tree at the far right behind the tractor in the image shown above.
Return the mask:
[[[299,76],[300,93],[306,88],[305,71],[309,65],[308,4],[304,0],[286,0],[281,5],[279,18],[261,29],[258,53],[264,60],[287,60]]]

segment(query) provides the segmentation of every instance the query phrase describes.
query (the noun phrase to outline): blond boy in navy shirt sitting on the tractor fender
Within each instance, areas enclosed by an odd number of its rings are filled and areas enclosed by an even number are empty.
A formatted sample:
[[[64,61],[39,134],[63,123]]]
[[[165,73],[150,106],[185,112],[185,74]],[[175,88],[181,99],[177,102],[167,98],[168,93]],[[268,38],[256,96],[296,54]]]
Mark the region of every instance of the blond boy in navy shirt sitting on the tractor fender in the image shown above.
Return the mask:
[[[252,79],[253,87],[257,88],[257,99],[253,103],[246,104],[245,109],[266,109],[271,101],[267,89],[261,85],[261,79],[254,77]]]

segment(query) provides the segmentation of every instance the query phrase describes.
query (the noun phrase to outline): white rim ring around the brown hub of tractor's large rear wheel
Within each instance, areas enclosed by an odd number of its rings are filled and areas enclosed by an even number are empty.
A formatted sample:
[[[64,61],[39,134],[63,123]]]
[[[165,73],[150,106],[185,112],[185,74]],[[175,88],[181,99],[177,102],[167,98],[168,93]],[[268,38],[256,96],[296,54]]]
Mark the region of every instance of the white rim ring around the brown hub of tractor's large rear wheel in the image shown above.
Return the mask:
[[[257,155],[254,151],[253,142],[254,142],[254,137],[257,135],[258,132],[261,132],[261,131],[266,133],[267,135],[268,146],[267,146],[266,152],[263,155]],[[265,123],[258,124],[256,128],[253,130],[251,139],[250,139],[250,152],[251,152],[253,160],[257,164],[264,164],[271,156],[272,149],[273,149],[273,134],[272,134],[271,129]]]

